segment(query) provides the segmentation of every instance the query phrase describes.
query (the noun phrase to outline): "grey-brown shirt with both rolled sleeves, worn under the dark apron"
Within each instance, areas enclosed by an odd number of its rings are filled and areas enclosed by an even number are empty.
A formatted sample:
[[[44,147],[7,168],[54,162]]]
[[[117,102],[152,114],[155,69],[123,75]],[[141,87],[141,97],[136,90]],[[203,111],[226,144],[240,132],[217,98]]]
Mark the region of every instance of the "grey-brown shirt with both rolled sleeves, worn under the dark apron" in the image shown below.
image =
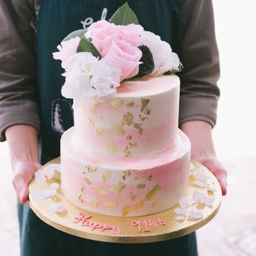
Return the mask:
[[[0,1],[0,141],[5,130],[28,124],[40,130],[34,38],[41,0]],[[211,0],[177,0],[182,23],[183,66],[179,124],[216,123],[220,76]]]

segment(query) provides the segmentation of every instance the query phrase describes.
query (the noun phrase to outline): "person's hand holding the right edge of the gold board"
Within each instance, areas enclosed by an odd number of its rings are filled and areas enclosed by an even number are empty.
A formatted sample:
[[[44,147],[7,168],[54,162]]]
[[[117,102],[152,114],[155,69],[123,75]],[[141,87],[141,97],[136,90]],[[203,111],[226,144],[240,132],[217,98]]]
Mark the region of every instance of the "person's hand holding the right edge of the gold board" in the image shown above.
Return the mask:
[[[222,195],[227,194],[227,172],[221,162],[214,157],[194,157],[195,161],[204,165],[210,170],[220,183]]]

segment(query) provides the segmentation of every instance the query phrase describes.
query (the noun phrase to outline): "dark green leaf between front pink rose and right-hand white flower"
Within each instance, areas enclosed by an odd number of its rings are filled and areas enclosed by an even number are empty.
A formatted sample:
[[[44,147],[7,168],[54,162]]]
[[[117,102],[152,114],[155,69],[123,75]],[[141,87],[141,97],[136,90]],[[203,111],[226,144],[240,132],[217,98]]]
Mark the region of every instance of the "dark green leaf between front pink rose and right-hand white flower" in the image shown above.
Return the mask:
[[[139,65],[139,73],[130,79],[136,79],[150,75],[155,68],[153,55],[150,49],[147,46],[140,46],[139,49],[142,51],[142,57],[140,58],[140,61],[143,63]]]

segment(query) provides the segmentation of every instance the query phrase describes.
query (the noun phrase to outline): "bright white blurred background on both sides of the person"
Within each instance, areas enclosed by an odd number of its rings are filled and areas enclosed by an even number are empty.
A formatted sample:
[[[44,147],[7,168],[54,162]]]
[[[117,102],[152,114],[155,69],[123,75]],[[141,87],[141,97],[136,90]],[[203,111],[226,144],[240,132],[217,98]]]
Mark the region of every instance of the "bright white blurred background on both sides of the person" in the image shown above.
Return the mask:
[[[256,12],[253,0],[213,0],[221,57],[217,154],[228,170],[218,215],[198,230],[200,256],[256,255]],[[6,143],[0,143],[0,255],[18,254],[16,201]]]

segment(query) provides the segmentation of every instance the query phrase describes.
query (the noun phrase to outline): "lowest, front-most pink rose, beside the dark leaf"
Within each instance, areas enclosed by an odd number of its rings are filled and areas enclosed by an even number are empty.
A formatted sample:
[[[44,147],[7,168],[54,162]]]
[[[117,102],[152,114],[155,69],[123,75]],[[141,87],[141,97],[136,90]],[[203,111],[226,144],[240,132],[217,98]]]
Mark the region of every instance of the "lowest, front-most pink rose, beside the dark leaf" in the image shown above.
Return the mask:
[[[106,53],[105,59],[111,61],[121,70],[120,81],[122,81],[138,74],[139,65],[142,63],[139,61],[141,56],[142,52],[139,48],[124,40],[115,40]]]

